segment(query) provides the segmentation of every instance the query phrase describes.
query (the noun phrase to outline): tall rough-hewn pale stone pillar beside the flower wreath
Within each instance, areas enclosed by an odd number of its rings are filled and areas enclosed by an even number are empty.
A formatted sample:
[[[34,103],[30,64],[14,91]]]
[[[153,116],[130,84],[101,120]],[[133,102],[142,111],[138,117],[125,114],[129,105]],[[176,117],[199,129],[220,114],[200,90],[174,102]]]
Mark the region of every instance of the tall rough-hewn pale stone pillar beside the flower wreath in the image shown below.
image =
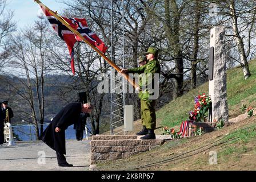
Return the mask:
[[[213,119],[217,119],[217,121],[223,119],[224,122],[227,122],[229,121],[229,108],[227,107],[225,27],[211,29],[210,47],[214,47],[213,80],[209,81],[209,96],[213,103],[211,118],[212,121]]]

